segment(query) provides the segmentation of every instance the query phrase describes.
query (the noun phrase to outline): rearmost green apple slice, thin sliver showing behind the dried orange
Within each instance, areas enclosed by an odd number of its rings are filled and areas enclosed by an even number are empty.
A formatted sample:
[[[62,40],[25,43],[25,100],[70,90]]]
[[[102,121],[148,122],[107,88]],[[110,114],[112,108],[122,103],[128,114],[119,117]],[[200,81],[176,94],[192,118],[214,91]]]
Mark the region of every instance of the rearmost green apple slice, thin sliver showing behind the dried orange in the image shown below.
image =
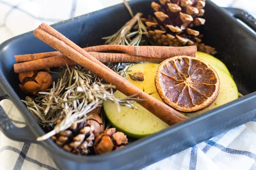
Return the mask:
[[[196,58],[199,58],[210,65],[217,66],[230,75],[230,72],[228,71],[228,68],[226,67],[226,65],[222,61],[220,61],[218,58],[212,55],[209,55],[207,53],[199,52],[199,51],[196,52]]]

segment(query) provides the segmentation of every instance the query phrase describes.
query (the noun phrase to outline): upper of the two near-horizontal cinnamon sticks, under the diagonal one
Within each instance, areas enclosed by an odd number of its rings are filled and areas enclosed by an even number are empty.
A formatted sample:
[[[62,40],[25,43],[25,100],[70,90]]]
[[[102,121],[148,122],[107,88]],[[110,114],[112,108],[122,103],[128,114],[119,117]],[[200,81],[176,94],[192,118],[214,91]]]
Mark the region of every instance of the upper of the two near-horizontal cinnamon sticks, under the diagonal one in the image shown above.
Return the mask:
[[[126,45],[100,45],[83,48],[87,52],[119,51],[130,55],[170,58],[176,55],[191,55],[196,53],[196,46],[165,47],[165,46],[126,46]],[[59,51],[14,55],[16,63],[37,60],[45,57],[62,55]]]

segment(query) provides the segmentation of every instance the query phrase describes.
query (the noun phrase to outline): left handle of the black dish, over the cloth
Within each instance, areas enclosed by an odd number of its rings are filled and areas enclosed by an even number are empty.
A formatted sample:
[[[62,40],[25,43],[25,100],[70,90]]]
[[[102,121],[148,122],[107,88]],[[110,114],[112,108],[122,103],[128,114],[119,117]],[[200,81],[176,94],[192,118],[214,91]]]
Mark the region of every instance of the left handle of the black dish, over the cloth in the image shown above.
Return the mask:
[[[0,100],[9,99],[8,95],[0,96]],[[0,106],[0,130],[4,135],[15,141],[37,143],[36,137],[28,128],[25,126],[23,128],[16,127],[11,119],[7,116],[2,106]]]

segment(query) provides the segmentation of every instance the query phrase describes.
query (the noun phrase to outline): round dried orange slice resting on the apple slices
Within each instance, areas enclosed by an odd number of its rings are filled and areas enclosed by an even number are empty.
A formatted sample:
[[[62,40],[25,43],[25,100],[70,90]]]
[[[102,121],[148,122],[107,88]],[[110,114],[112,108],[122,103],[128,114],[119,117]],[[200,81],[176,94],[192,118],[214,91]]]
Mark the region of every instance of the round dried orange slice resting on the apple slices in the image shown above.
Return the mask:
[[[175,56],[159,64],[156,89],[162,100],[182,112],[204,109],[216,100],[220,91],[217,72],[203,60]]]

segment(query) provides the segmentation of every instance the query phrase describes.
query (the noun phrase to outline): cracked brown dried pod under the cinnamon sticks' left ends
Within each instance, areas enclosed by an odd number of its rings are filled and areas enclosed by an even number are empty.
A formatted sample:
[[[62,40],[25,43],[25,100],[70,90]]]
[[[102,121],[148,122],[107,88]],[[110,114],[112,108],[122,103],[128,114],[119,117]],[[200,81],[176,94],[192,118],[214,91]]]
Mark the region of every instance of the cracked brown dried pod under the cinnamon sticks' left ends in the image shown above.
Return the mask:
[[[50,87],[52,76],[45,71],[29,71],[19,73],[20,89],[25,93],[37,95]]]

